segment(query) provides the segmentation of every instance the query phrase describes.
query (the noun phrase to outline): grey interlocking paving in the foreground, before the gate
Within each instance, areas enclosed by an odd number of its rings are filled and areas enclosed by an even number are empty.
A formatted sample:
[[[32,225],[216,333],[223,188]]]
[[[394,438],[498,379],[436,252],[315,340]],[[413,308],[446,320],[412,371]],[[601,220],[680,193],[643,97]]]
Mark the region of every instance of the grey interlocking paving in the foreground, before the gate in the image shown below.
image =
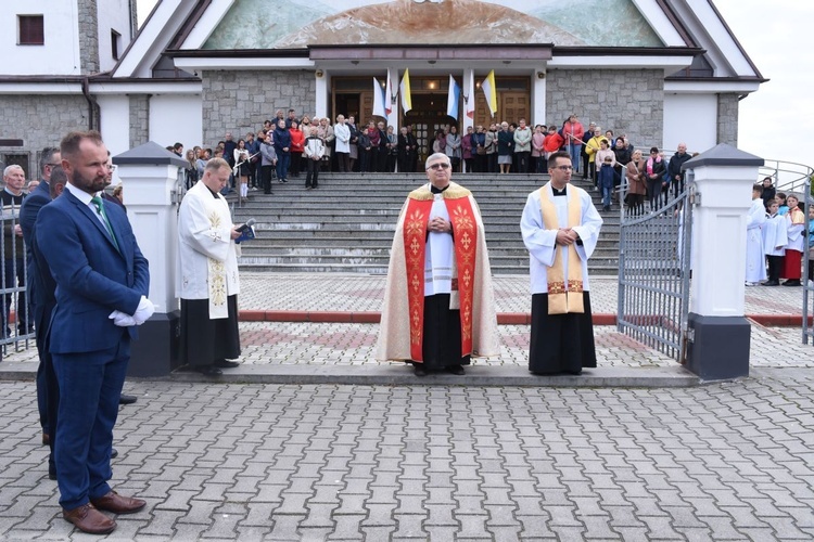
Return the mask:
[[[110,540],[814,539],[814,373],[684,389],[139,382]],[[0,383],[0,538],[60,517],[31,383]]]

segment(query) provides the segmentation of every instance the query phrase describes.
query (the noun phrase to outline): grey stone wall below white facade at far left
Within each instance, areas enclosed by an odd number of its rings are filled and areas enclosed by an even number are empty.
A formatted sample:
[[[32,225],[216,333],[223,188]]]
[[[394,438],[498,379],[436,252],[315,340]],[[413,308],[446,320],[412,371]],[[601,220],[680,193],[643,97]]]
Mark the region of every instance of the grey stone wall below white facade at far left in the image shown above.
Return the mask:
[[[23,140],[22,146],[0,147],[0,160],[8,154],[28,155],[27,179],[39,178],[37,160],[43,147],[60,146],[67,132],[88,129],[88,102],[81,95],[5,94],[0,95],[0,138]]]

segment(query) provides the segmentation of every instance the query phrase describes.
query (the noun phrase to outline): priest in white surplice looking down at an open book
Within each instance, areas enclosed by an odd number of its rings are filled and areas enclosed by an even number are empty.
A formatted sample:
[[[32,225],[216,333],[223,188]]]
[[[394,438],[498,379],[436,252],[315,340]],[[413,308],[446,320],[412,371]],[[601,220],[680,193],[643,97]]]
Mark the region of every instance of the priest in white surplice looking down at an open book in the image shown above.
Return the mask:
[[[231,168],[211,159],[201,180],[183,196],[178,212],[178,279],[181,298],[181,359],[191,369],[218,376],[240,356],[238,330],[240,231],[220,191]]]

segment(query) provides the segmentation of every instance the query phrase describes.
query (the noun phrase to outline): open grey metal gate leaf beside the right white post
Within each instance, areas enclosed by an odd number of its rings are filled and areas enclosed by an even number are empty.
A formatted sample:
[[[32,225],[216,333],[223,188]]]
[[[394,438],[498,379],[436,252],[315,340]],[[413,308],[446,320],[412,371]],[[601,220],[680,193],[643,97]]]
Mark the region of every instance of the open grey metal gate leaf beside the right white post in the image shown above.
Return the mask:
[[[622,206],[616,327],[684,363],[692,240],[691,171],[687,189],[649,210]],[[620,201],[625,201],[625,186]]]

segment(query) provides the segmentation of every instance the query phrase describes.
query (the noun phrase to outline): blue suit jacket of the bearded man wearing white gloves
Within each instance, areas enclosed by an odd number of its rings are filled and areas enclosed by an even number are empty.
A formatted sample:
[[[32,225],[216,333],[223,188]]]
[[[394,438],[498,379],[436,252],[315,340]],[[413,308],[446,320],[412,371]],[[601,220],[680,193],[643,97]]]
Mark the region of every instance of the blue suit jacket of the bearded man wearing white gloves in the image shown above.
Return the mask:
[[[56,281],[56,309],[51,322],[53,353],[113,348],[136,326],[119,327],[114,310],[132,314],[150,291],[150,270],[125,212],[105,211],[118,250],[93,210],[71,191],[42,207],[36,222],[37,245]]]

